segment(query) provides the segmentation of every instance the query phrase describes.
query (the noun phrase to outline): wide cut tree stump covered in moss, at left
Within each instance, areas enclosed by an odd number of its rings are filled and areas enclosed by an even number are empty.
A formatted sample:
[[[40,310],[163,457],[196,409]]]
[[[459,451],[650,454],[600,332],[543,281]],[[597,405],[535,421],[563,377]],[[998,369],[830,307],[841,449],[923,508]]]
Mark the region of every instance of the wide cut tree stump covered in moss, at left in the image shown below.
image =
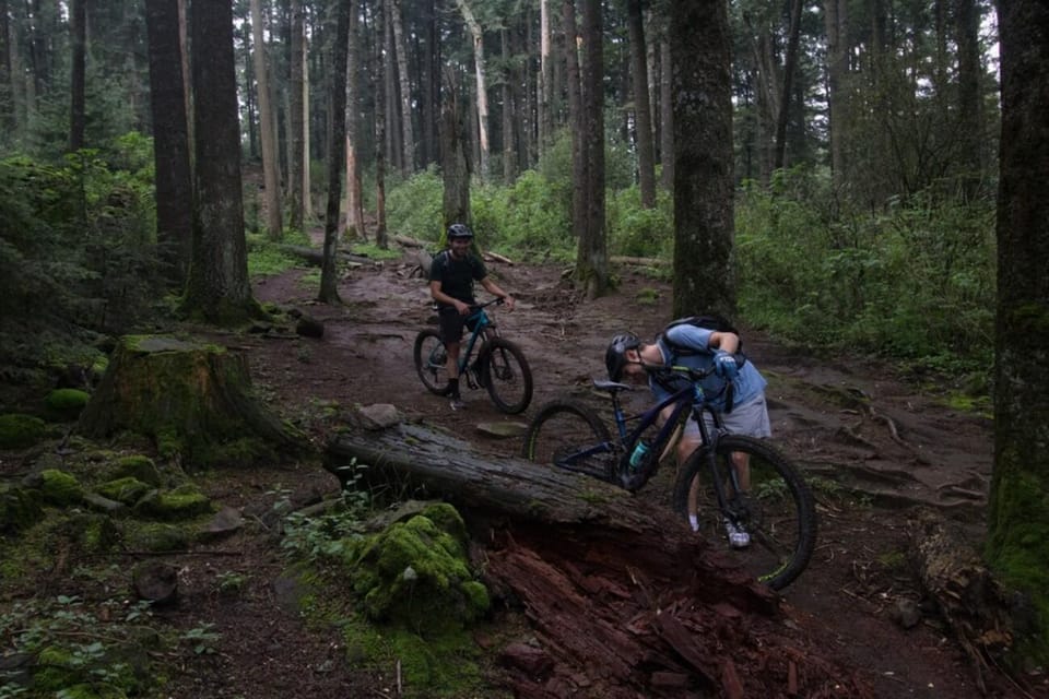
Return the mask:
[[[79,429],[146,435],[162,457],[198,467],[272,461],[306,443],[255,398],[243,355],[154,335],[120,340]]]

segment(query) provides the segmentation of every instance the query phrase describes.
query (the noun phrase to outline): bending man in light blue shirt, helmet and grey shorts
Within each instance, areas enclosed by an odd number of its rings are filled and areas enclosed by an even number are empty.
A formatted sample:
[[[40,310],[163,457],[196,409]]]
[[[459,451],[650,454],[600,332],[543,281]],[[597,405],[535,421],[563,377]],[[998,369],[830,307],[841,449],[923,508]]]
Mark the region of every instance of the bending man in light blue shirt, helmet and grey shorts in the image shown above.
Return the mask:
[[[685,347],[688,352],[682,353],[675,347]],[[714,372],[700,383],[704,394],[712,406],[721,412],[724,427],[728,431],[765,438],[771,436],[771,426],[768,420],[768,407],[765,403],[765,377],[750,360],[743,362],[735,353],[740,348],[740,337],[732,332],[719,332],[696,325],[682,323],[671,327],[663,335],[651,343],[643,343],[633,333],[623,333],[612,339],[605,352],[605,365],[609,379],[620,381],[623,375],[640,378],[648,377],[648,386],[657,401],[671,394],[668,387],[662,386],[653,376],[646,371],[648,368],[686,366],[700,371],[714,368]],[[732,410],[728,407],[728,382],[732,382]],[[669,413],[671,407],[667,408]],[[712,418],[706,416],[708,427],[714,428]],[[684,431],[677,442],[677,462],[684,460],[695,451],[700,443],[699,426],[693,418],[688,418]],[[746,454],[733,454],[740,487],[750,488],[750,466]],[[688,518],[693,530],[698,529],[696,516],[695,485],[688,497]],[[729,543],[736,548],[750,545],[750,535],[726,522],[726,532]]]

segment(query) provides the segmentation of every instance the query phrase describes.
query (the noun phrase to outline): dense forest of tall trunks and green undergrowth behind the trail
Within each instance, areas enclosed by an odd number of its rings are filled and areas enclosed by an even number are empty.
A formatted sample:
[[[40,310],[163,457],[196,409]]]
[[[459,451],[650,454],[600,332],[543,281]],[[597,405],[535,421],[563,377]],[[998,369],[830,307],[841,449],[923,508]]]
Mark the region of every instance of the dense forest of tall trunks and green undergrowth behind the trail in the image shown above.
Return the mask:
[[[0,0],[0,379],[257,315],[321,227],[329,303],[338,247],[451,221],[590,297],[629,258],[993,396],[990,558],[1045,623],[1047,22],[1003,4]]]

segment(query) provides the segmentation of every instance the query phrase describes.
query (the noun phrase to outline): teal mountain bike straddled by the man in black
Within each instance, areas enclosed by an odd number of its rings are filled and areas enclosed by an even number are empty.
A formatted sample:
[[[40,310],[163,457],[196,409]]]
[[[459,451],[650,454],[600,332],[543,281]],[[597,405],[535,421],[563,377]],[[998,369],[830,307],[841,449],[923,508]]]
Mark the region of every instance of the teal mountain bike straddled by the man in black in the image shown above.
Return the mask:
[[[524,353],[517,344],[502,337],[495,321],[485,312],[502,298],[471,307],[467,317],[469,339],[459,353],[459,377],[471,389],[487,389],[492,402],[502,412],[516,415],[524,412],[532,401],[532,370]],[[476,350],[476,359],[471,357]],[[415,370],[432,393],[448,395],[448,355],[440,333],[432,328],[415,336]]]

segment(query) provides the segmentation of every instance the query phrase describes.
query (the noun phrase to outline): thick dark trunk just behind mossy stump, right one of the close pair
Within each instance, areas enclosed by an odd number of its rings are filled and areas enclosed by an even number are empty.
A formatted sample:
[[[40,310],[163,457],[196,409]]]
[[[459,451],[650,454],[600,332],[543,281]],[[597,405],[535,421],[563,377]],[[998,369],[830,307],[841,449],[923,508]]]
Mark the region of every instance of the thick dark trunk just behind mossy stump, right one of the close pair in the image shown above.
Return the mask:
[[[190,13],[197,158],[193,253],[184,309],[233,324],[258,312],[248,284],[231,0]]]

